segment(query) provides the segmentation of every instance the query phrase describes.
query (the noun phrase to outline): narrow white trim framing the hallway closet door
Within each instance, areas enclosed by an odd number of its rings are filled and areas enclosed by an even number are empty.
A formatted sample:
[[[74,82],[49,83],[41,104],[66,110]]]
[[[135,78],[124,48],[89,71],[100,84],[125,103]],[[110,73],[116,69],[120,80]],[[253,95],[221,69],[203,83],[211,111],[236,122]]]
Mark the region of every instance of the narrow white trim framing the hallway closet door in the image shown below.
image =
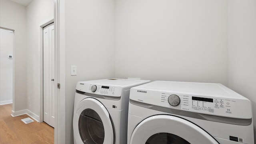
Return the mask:
[[[40,48],[40,50],[39,50],[39,52],[40,52],[40,118],[39,118],[39,122],[44,121],[44,64],[43,64],[43,62],[44,62],[43,34],[44,33],[43,33],[43,28],[49,24],[52,24],[53,22],[54,22],[54,19],[48,20],[39,26],[39,28],[40,28],[40,39],[39,39],[39,43],[40,43],[40,46],[39,46],[39,48]]]

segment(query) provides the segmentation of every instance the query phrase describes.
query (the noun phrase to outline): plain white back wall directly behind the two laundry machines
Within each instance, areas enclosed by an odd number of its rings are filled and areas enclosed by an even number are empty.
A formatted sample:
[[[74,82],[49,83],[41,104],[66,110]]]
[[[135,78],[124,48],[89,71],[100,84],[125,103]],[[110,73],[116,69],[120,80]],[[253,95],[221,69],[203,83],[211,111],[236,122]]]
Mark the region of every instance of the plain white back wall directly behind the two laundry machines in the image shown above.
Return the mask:
[[[116,0],[117,78],[227,86],[226,0]]]

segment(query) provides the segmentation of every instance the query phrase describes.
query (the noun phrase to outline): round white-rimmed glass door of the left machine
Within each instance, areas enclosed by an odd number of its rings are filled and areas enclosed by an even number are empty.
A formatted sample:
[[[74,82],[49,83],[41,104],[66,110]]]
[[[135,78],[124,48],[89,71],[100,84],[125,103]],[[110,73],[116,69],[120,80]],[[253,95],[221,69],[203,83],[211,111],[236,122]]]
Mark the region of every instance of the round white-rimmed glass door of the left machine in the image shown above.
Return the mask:
[[[113,144],[114,131],[107,109],[94,98],[85,98],[74,110],[76,144]]]

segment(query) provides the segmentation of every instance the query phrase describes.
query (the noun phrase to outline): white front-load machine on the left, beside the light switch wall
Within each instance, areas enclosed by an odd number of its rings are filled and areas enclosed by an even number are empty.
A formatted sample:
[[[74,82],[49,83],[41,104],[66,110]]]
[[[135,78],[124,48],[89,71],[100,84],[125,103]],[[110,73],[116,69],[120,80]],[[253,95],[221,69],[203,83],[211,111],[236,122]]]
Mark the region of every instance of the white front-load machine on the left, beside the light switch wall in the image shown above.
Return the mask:
[[[149,80],[78,82],[74,101],[75,144],[126,144],[130,88]]]

